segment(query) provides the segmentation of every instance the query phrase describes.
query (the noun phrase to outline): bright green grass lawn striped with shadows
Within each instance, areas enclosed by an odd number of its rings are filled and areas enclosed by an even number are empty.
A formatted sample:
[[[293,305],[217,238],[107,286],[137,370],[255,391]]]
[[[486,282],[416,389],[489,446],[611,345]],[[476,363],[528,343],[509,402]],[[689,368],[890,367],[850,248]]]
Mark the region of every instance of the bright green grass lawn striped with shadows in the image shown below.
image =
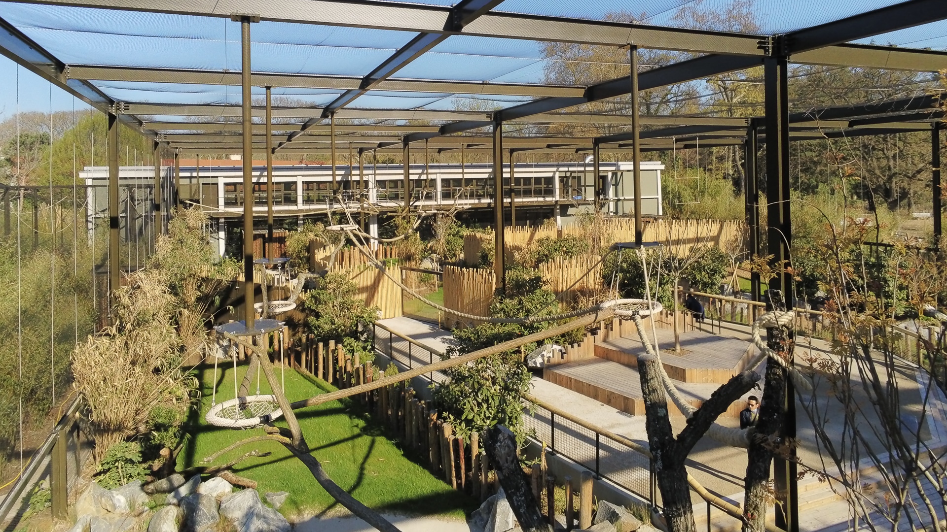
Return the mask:
[[[238,378],[246,372],[246,363],[237,367]],[[277,379],[279,367],[276,368]],[[223,371],[222,371],[223,370]],[[233,366],[218,369],[217,399],[233,399]],[[286,395],[290,401],[306,399],[335,388],[310,376],[286,369]],[[255,435],[261,429],[235,431],[207,425],[204,416],[210,408],[213,367],[198,372],[202,399],[200,415],[189,421],[188,440],[178,459],[180,469],[205,465],[203,459],[227,445]],[[251,393],[256,391],[256,385]],[[260,381],[260,393],[268,394],[266,380]],[[381,427],[371,420],[363,407],[349,402],[332,401],[296,410],[296,417],[313,455],[336,484],[356,499],[376,510],[405,515],[440,514],[463,518],[476,508],[474,499],[409,460],[396,443],[384,437]],[[280,419],[280,426],[285,423]],[[288,491],[289,498],[280,511],[286,516],[333,515],[345,513],[315,482],[313,475],[282,445],[276,442],[247,444],[217,458],[223,464],[245,452],[272,452],[270,456],[250,457],[234,472],[259,483],[261,494]]]

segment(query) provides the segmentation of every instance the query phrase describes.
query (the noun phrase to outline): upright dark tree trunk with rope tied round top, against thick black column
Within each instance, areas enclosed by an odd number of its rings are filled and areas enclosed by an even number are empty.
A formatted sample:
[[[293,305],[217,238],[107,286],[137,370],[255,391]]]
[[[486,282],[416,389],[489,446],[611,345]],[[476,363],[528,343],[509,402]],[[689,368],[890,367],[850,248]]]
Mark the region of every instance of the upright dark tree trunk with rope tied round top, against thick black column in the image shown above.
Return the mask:
[[[767,291],[767,297],[776,310],[786,310],[778,291]],[[790,360],[793,352],[793,333],[784,328],[769,328],[766,345],[779,356]],[[770,497],[770,467],[774,449],[780,445],[782,419],[785,416],[786,382],[789,371],[775,361],[766,361],[766,381],[759,404],[757,426],[750,436],[746,451],[746,477],[743,479],[745,501],[743,532],[763,532],[766,529],[766,501]]]

